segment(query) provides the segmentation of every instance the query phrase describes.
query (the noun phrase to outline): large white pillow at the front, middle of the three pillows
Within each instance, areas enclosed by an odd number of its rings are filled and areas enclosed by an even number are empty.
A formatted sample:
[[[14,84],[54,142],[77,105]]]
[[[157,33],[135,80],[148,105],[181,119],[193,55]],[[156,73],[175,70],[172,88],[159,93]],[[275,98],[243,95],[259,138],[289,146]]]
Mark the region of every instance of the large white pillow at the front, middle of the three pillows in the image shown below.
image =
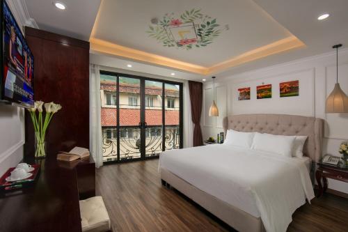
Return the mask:
[[[256,132],[251,149],[292,157],[295,136],[261,134]]]

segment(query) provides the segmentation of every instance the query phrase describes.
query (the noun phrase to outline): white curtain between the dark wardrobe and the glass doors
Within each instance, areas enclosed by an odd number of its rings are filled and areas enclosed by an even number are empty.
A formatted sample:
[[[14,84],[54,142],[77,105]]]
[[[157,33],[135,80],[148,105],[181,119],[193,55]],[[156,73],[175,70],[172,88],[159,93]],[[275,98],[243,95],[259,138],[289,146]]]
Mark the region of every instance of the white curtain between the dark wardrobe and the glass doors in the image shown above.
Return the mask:
[[[90,153],[95,161],[95,167],[99,168],[103,165],[102,123],[100,121],[100,68],[98,65],[90,65],[89,70],[89,146]]]

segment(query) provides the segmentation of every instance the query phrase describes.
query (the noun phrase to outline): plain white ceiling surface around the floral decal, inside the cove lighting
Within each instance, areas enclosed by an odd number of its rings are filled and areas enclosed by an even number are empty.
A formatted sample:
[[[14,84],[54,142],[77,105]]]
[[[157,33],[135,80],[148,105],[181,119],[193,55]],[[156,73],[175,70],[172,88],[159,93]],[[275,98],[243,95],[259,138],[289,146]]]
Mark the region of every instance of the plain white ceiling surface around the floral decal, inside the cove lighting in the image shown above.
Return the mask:
[[[216,19],[222,30],[206,47],[164,47],[145,32],[150,25],[156,26],[150,22],[152,17],[161,20],[166,13],[174,13],[173,18],[181,20],[180,15],[192,9]],[[117,45],[208,67],[289,36],[287,29],[248,0],[104,0],[93,33],[94,38]]]

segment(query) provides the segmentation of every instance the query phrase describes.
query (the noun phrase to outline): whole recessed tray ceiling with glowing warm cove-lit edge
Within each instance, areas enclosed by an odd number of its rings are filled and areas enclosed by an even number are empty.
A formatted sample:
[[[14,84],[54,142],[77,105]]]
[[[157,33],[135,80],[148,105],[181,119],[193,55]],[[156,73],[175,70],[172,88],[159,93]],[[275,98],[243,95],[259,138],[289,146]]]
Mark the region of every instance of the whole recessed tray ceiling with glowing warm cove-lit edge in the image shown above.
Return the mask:
[[[209,23],[219,33],[202,43],[199,31]],[[249,0],[104,0],[90,42],[97,52],[203,75],[303,47]]]

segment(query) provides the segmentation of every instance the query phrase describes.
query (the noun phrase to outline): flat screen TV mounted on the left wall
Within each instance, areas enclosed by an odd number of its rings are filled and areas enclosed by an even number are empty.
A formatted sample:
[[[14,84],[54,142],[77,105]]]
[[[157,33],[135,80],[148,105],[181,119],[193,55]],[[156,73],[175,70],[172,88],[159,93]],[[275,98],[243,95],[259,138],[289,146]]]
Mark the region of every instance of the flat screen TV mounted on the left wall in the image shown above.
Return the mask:
[[[1,102],[33,106],[34,56],[5,0],[1,3]]]

